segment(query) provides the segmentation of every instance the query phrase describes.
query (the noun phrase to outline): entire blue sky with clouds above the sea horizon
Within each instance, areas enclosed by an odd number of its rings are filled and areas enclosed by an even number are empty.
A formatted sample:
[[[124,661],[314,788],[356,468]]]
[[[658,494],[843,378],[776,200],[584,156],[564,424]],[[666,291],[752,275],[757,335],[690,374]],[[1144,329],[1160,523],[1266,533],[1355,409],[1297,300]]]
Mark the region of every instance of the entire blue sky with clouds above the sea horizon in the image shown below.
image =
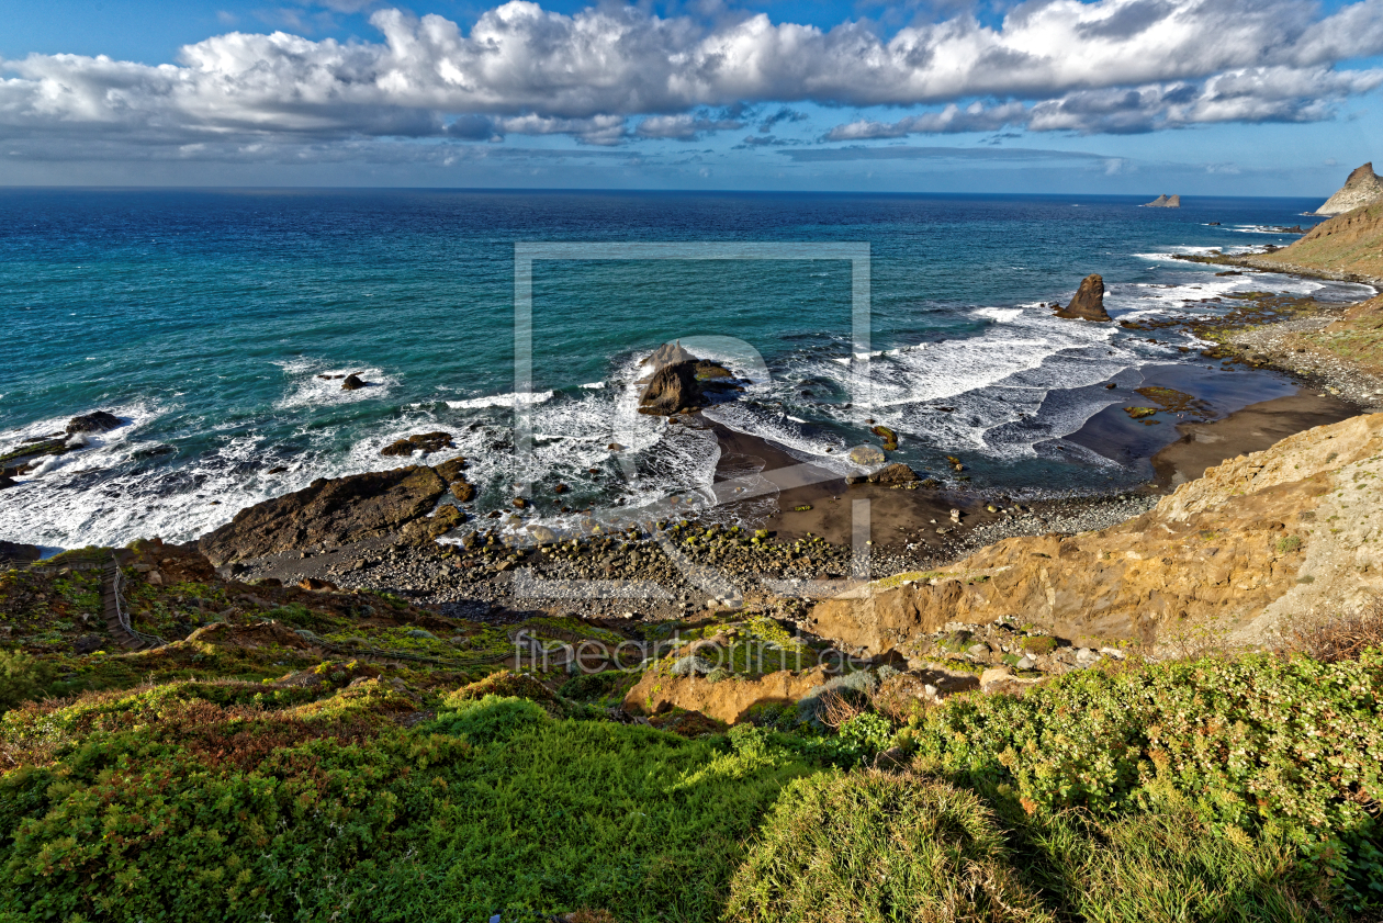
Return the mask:
[[[1326,197],[1383,0],[0,0],[0,185]]]

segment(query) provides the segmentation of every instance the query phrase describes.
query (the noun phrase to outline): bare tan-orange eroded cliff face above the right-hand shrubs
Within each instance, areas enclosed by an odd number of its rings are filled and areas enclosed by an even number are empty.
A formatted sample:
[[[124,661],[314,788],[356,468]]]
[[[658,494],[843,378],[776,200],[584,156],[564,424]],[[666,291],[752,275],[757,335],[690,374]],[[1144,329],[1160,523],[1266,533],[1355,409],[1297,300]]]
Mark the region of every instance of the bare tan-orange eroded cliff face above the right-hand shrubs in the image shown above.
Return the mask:
[[[938,574],[878,581],[812,612],[812,631],[878,655],[950,621],[1014,616],[1076,643],[1274,646],[1383,591],[1383,414],[1241,455],[1142,516],[1008,538]],[[896,585],[891,585],[896,584]]]

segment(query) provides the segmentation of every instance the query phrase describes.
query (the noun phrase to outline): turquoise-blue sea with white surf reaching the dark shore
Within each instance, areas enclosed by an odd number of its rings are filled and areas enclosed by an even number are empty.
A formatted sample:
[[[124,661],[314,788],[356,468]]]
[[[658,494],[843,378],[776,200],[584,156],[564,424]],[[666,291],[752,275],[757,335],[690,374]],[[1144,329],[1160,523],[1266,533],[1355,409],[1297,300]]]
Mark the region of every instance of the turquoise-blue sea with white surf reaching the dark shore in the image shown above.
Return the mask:
[[[571,484],[575,508],[694,494],[714,440],[633,414],[639,358],[676,338],[752,347],[762,368],[709,343],[754,383],[708,414],[804,461],[844,470],[874,419],[920,469],[964,455],[976,487],[1131,484],[1145,468],[1064,437],[1113,400],[1104,382],[1187,361],[1178,343],[1057,321],[1039,302],[1065,302],[1087,273],[1104,275],[1116,318],[1210,310],[1185,300],[1235,289],[1368,291],[1170,259],[1286,244],[1263,227],[1307,220],[1315,201],[1141,201],[0,191],[0,450],[91,410],[129,421],[0,491],[0,537],[187,540],[315,477],[386,466],[380,447],[431,429],[473,459],[481,509],[526,480],[539,497]],[[514,244],[557,241],[867,244],[871,400],[851,361],[848,263],[546,262],[534,270],[535,455],[516,466]],[[347,372],[371,386],[318,378]],[[539,515],[570,519],[555,502]]]

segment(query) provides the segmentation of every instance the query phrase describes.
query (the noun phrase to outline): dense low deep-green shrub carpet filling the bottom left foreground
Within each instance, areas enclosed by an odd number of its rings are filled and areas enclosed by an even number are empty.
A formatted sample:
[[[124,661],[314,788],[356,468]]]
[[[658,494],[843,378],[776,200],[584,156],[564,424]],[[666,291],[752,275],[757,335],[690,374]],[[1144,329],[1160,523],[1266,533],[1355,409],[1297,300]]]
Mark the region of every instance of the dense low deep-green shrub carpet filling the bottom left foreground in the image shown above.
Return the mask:
[[[741,843],[809,771],[514,699],[467,703],[472,740],[386,717],[373,736],[284,742],[272,715],[245,710],[212,738],[91,731],[51,774],[0,776],[0,916],[469,923],[586,906],[711,922]]]

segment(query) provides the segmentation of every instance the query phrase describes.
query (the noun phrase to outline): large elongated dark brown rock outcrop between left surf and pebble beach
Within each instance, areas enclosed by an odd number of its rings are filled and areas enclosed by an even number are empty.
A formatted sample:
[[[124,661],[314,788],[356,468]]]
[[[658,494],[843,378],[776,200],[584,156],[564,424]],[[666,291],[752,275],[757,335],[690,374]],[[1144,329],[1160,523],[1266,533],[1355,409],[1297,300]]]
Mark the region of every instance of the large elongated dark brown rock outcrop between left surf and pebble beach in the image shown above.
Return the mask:
[[[220,566],[313,545],[347,545],[389,536],[423,519],[447,491],[431,468],[319,477],[308,487],[242,509],[235,519],[198,540]]]

